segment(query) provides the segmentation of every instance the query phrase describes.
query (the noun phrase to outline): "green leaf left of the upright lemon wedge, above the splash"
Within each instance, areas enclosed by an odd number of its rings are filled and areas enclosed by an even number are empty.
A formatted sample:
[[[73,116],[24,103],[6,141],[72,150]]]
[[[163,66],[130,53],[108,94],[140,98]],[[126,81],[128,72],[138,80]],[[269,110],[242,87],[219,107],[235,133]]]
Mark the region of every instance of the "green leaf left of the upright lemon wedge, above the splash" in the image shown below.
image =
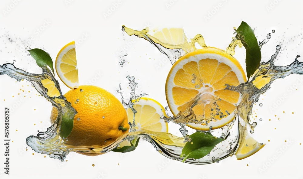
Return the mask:
[[[31,56],[36,60],[36,63],[39,67],[50,67],[53,74],[54,73],[54,64],[52,58],[46,53],[44,50],[39,48],[34,48],[32,50],[28,50]]]

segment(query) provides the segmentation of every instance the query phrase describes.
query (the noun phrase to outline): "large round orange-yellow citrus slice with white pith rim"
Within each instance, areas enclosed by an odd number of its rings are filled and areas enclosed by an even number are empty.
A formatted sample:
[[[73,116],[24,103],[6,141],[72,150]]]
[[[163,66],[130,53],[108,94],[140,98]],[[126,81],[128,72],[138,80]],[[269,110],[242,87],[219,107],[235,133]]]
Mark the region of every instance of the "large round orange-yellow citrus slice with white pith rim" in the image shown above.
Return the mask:
[[[225,89],[246,82],[240,63],[223,50],[205,47],[181,57],[168,73],[165,85],[169,109],[176,116],[192,108],[197,123],[187,125],[197,130],[218,129],[234,119],[241,94]]]

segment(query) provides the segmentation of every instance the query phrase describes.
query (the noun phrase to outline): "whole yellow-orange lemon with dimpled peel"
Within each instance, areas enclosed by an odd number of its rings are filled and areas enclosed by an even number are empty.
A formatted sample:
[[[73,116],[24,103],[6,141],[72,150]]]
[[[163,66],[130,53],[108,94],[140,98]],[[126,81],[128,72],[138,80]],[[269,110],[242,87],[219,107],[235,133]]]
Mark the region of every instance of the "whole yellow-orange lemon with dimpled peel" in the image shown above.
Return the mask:
[[[112,94],[97,86],[79,86],[65,95],[78,112],[67,144],[74,146],[106,145],[129,130],[128,117],[122,103]],[[58,116],[53,107],[51,122]]]

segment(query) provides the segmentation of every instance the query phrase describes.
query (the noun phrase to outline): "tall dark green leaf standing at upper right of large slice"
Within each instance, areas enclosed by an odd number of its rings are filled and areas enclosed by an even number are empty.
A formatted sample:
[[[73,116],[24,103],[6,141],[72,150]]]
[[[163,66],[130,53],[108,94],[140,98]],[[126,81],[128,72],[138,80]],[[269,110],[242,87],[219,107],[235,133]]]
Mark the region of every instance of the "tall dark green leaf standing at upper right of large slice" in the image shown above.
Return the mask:
[[[258,44],[258,40],[255,37],[255,32],[252,28],[242,21],[240,26],[236,30],[237,38],[241,40],[241,43],[246,49],[246,73],[248,80],[258,69],[261,62],[261,50]]]

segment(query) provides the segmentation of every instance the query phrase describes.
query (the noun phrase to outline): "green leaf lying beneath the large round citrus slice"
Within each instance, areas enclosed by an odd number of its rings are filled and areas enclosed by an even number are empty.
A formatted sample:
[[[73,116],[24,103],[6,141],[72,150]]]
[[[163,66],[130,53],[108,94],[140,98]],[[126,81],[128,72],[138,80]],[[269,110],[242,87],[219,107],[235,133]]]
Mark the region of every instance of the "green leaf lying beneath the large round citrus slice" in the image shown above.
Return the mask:
[[[185,144],[180,155],[180,157],[185,155],[182,162],[184,162],[187,158],[199,159],[204,157],[211,152],[215,145],[225,140],[214,137],[209,132],[195,132],[190,135],[189,138],[191,138],[191,142],[187,142]]]

